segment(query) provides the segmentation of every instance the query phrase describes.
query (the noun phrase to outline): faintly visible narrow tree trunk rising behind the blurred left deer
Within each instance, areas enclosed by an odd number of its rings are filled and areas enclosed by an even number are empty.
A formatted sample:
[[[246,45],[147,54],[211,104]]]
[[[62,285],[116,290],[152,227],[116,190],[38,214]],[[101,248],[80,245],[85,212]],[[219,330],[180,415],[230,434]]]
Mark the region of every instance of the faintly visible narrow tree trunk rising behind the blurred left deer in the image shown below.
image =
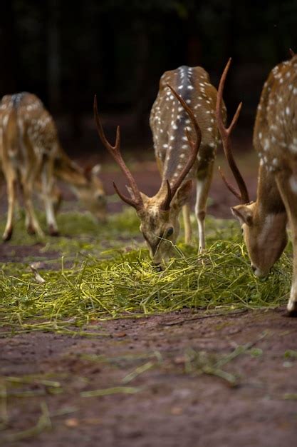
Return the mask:
[[[61,61],[58,0],[48,0],[48,104],[52,112],[61,104]]]

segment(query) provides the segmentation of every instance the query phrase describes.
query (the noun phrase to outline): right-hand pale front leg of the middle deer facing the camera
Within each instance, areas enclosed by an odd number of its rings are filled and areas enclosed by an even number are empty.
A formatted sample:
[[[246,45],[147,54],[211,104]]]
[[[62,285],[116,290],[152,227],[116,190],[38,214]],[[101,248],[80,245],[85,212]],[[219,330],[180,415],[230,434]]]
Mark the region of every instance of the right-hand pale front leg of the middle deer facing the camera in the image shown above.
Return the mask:
[[[212,182],[213,167],[214,162],[212,161],[206,170],[197,174],[195,214],[198,224],[199,252],[205,248],[204,219],[207,211],[207,197]]]

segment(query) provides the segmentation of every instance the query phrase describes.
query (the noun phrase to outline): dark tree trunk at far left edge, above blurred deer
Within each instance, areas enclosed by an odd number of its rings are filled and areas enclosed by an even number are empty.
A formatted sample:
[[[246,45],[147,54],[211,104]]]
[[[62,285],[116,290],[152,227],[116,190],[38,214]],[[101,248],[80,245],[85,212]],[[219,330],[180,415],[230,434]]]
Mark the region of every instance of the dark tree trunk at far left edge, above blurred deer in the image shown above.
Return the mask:
[[[2,0],[0,14],[1,97],[4,94],[16,92],[16,69],[19,64],[15,36],[13,1]]]

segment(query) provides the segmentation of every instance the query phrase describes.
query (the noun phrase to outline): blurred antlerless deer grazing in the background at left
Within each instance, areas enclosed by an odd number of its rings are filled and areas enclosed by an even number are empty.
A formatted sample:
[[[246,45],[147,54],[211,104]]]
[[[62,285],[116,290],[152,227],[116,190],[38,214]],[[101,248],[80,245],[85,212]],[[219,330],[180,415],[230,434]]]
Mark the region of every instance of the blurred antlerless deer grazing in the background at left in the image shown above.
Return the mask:
[[[34,190],[41,193],[48,232],[58,234],[55,209],[60,201],[56,179],[69,184],[85,207],[105,218],[105,195],[98,166],[83,171],[65,154],[52,116],[40,99],[26,92],[6,95],[0,105],[0,163],[7,185],[8,214],[4,241],[11,238],[18,186],[23,192],[28,233],[43,231],[33,209]]]

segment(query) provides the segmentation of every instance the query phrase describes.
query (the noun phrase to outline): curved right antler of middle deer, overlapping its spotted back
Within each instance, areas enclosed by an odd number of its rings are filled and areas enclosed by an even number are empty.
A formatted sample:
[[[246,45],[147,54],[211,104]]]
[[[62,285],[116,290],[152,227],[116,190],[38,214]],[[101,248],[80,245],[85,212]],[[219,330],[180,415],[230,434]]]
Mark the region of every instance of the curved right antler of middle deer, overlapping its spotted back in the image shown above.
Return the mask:
[[[166,180],[167,194],[165,196],[164,201],[161,204],[161,209],[163,211],[166,211],[166,210],[170,209],[170,202],[172,201],[172,199],[174,197],[174,194],[177,192],[177,189],[179,189],[179,186],[182,184],[182,181],[184,180],[184,177],[187,176],[187,174],[189,173],[189,170],[194,165],[194,162],[197,159],[197,154],[198,154],[199,147],[200,147],[200,144],[201,144],[201,139],[202,139],[201,130],[199,128],[199,125],[197,123],[197,120],[196,120],[192,110],[189,108],[187,103],[182,99],[182,97],[179,96],[179,94],[177,94],[177,92],[174,89],[172,89],[172,86],[167,84],[167,87],[170,88],[170,90],[172,91],[172,94],[174,94],[174,96],[177,98],[177,100],[180,102],[180,104],[182,104],[184,110],[187,111],[187,114],[189,115],[189,119],[191,119],[192,124],[194,126],[194,130],[195,130],[196,135],[197,135],[197,140],[194,143],[190,139],[188,129],[186,129],[187,140],[189,142],[189,146],[190,146],[191,152],[189,154],[189,159],[188,159],[187,163],[184,165],[184,169],[182,169],[182,171],[179,173],[179,176],[174,181],[174,184],[172,186],[170,186],[169,181]]]

